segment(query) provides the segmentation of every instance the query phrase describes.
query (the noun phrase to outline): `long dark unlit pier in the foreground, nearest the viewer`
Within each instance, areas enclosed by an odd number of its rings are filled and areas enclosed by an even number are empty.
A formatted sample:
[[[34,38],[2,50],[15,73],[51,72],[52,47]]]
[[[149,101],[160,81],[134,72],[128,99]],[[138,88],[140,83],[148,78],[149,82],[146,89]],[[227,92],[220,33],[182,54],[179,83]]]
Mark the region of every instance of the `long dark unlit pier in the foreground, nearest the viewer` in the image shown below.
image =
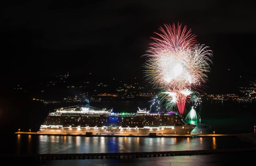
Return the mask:
[[[1,159],[25,159],[31,161],[45,160],[76,160],[76,159],[129,159],[140,157],[163,157],[182,155],[205,155],[227,153],[256,152],[256,148],[239,149],[210,149],[210,150],[186,150],[186,151],[160,151],[160,152],[124,152],[124,153],[83,153],[83,154],[31,154],[31,155],[0,155]]]

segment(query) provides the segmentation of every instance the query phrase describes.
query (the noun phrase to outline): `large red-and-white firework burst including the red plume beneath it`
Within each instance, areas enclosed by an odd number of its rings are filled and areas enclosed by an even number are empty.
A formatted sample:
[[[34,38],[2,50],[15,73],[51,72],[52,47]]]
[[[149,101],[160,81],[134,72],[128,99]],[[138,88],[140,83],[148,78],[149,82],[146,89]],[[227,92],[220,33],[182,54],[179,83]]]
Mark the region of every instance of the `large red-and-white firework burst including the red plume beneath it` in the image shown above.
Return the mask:
[[[192,91],[207,81],[210,72],[212,51],[204,44],[196,44],[196,36],[182,29],[178,23],[160,27],[161,33],[155,33],[154,43],[147,51],[144,64],[146,79],[156,88],[168,89],[162,92],[161,101],[169,107],[177,105],[183,115],[185,103]]]

